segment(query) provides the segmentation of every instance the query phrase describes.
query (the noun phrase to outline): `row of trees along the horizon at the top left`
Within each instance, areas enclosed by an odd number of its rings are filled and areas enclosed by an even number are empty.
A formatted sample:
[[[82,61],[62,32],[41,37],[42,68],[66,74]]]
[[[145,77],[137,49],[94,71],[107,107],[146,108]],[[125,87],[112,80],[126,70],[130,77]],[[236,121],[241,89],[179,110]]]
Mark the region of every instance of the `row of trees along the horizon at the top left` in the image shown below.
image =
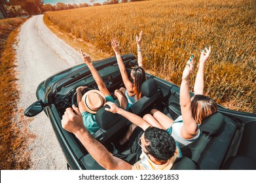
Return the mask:
[[[128,3],[133,1],[143,1],[143,0],[106,0],[102,5],[112,5],[118,3]],[[91,6],[101,6],[100,3],[96,3],[96,0],[89,0],[89,3],[79,3],[77,4],[65,4],[57,3],[56,5],[44,4],[41,0],[10,0],[7,3],[7,12],[9,17],[16,16],[31,16],[35,14],[43,14],[46,11],[58,11],[58,10],[69,10],[73,8],[84,8]]]

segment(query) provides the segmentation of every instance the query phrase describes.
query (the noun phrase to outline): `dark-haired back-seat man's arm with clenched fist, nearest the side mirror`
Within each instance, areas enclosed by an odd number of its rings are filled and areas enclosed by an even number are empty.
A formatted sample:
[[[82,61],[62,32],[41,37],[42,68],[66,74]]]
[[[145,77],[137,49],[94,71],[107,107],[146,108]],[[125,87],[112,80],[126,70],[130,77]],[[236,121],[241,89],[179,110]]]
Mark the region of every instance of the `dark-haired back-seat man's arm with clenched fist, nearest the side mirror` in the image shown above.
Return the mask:
[[[74,108],[75,112],[77,108]],[[126,161],[111,156],[105,146],[98,142],[89,131],[82,124],[82,118],[78,114],[73,112],[72,108],[65,110],[64,116],[62,116],[62,127],[74,133],[77,139],[81,141],[82,145],[88,153],[94,158],[102,167],[109,170],[130,170],[132,165],[126,163]]]

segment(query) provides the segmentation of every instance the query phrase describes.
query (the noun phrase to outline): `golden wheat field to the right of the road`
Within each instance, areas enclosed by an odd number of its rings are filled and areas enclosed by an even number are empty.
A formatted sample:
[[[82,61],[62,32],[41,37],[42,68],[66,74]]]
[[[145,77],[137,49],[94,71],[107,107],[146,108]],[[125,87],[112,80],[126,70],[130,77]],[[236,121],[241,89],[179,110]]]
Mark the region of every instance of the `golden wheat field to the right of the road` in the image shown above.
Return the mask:
[[[137,54],[135,37],[143,30],[145,68],[177,85],[189,56],[194,54],[197,65],[200,50],[211,46],[204,92],[225,107],[255,113],[255,4],[255,0],[140,1],[46,12],[45,18],[92,44],[99,54],[114,55],[112,37],[119,40],[122,54]]]

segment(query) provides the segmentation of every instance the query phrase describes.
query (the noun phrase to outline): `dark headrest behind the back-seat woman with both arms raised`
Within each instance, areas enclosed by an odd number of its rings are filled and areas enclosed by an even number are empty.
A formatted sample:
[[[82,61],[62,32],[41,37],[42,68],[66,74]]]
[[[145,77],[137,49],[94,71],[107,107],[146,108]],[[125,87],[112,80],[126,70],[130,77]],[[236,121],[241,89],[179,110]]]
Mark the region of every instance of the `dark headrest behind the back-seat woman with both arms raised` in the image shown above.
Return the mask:
[[[199,126],[199,129],[202,132],[209,133],[209,135],[216,134],[221,125],[224,122],[224,116],[220,112],[216,112],[215,114],[212,114],[208,118],[206,118],[202,124]]]

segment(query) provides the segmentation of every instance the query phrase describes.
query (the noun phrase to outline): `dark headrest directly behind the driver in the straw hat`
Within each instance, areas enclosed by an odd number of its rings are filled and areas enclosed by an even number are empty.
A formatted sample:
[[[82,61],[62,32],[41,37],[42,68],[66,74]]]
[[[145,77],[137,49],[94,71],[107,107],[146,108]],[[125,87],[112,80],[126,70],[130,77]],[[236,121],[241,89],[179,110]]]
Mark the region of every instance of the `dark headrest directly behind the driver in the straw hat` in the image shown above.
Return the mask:
[[[119,120],[119,114],[114,114],[105,110],[105,108],[110,108],[108,105],[103,106],[96,112],[96,122],[101,129],[107,130],[112,125],[116,124]]]

